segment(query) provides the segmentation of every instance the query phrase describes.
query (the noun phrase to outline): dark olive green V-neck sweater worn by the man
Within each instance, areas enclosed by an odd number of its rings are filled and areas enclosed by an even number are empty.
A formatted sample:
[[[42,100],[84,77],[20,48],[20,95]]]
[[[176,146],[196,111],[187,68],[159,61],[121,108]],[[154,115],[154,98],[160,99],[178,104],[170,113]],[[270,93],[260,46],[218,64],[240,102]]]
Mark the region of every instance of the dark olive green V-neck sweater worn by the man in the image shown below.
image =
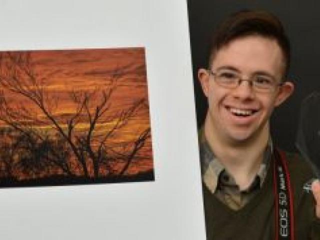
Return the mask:
[[[295,240],[320,240],[320,220],[315,217],[312,193],[302,190],[313,173],[307,163],[287,153],[294,202]],[[273,159],[260,191],[241,209],[234,211],[220,202],[205,186],[204,215],[208,240],[273,240]]]

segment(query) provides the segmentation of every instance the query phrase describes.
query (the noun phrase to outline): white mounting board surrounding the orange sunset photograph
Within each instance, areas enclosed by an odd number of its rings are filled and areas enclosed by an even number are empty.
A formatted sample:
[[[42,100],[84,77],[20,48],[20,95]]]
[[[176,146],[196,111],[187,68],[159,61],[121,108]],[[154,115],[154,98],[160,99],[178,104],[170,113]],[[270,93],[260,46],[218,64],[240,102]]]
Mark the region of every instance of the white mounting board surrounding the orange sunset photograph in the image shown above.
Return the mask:
[[[154,182],[0,189],[1,239],[205,239],[185,0],[0,0],[0,49],[144,46]]]

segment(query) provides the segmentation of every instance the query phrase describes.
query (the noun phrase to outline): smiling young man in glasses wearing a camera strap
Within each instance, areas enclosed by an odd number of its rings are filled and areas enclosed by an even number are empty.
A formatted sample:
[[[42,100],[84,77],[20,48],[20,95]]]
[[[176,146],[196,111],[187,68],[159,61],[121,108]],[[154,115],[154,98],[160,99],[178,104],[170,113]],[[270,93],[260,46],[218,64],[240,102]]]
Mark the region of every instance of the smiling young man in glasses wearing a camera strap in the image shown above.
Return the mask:
[[[304,192],[312,171],[269,133],[273,108],[294,88],[289,53],[280,21],[264,11],[232,14],[212,38],[198,70],[208,101],[199,132],[207,239],[320,239],[320,184]]]

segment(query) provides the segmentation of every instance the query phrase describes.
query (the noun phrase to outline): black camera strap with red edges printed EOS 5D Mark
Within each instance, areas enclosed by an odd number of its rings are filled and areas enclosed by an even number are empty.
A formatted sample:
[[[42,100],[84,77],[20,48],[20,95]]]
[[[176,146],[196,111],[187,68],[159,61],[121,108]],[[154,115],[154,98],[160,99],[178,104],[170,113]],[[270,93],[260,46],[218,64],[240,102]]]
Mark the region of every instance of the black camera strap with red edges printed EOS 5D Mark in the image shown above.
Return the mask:
[[[274,150],[275,239],[294,240],[293,196],[285,153]]]

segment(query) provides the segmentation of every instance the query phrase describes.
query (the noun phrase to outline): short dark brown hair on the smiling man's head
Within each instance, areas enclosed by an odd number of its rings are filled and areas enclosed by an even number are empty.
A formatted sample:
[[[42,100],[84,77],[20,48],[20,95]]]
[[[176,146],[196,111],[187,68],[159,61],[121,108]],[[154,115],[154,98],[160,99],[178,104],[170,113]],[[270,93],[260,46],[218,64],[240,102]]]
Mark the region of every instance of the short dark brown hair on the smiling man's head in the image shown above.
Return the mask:
[[[290,64],[290,44],[280,20],[273,14],[262,10],[242,10],[231,14],[216,29],[209,43],[207,67],[215,53],[230,41],[244,36],[260,35],[275,39],[283,54],[284,76]]]

